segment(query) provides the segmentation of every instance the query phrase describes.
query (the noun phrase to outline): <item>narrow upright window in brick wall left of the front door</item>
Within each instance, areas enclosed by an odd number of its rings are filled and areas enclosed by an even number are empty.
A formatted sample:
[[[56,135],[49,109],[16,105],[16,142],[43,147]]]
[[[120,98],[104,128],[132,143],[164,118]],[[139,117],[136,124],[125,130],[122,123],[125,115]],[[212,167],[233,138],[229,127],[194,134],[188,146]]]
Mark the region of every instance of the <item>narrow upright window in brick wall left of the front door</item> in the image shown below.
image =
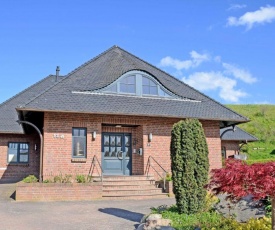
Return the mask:
[[[87,131],[85,128],[73,128],[73,152],[75,158],[86,157]]]

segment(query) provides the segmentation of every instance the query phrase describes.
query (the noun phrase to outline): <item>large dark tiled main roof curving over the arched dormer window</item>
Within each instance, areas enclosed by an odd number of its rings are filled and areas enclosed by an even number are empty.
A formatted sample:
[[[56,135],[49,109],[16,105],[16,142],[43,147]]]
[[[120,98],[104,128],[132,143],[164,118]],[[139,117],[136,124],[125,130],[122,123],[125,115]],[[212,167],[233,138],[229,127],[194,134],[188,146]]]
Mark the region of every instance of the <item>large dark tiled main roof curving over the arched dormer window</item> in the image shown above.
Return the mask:
[[[111,84],[131,70],[152,75],[174,94],[194,102],[89,93]],[[222,121],[221,127],[248,121],[246,117],[117,46],[81,65],[36,98],[22,103],[18,110],[195,117]]]

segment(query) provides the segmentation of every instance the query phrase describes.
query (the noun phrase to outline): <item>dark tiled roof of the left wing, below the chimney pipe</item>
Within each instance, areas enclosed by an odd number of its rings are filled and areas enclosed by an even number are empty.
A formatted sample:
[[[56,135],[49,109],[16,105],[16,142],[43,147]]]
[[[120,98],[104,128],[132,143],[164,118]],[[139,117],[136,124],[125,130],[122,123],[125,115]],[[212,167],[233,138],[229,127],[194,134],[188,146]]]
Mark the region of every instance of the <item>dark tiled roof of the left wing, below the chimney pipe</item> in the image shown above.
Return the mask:
[[[22,127],[16,123],[18,115],[15,108],[33,99],[55,83],[55,76],[50,75],[0,104],[0,133],[22,134]]]

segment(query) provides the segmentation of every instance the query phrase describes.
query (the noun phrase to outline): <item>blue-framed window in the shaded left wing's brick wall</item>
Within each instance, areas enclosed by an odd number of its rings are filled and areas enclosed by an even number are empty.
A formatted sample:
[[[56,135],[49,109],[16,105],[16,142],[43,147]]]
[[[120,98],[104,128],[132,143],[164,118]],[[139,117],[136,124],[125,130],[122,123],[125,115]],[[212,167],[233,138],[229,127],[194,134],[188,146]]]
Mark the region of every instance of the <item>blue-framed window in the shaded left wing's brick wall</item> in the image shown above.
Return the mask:
[[[29,144],[10,142],[8,144],[8,163],[28,163]]]

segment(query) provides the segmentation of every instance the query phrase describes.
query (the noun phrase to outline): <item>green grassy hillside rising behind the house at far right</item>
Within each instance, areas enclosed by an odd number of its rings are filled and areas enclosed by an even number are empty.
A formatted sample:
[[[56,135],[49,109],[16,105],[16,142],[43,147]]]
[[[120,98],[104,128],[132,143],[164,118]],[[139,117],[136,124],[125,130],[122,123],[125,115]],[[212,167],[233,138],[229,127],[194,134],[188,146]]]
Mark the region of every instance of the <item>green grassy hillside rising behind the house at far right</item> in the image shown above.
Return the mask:
[[[249,161],[275,160],[275,105],[227,105],[251,121],[239,125],[259,139],[243,149]]]

